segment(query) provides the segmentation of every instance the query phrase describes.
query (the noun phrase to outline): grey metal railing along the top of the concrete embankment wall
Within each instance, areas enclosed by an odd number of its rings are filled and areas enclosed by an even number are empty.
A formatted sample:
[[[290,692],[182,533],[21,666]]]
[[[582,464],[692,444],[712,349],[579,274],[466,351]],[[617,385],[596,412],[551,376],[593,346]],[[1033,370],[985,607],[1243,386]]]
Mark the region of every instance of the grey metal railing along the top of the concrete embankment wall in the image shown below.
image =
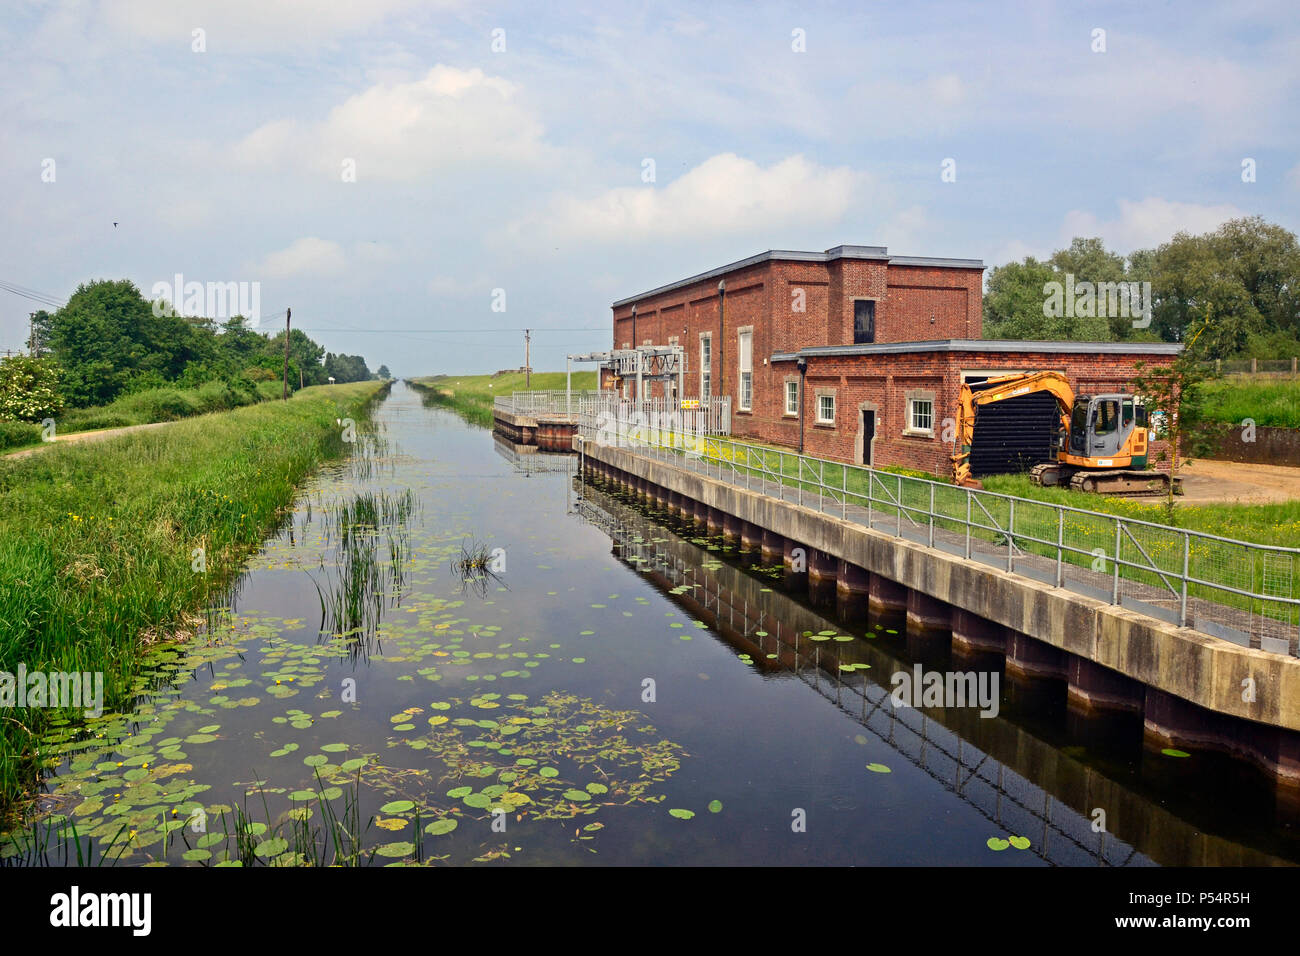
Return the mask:
[[[619,445],[815,507],[971,561],[1124,605],[1182,627],[1279,654],[1297,654],[1300,549],[1173,528],[716,436],[602,429]]]

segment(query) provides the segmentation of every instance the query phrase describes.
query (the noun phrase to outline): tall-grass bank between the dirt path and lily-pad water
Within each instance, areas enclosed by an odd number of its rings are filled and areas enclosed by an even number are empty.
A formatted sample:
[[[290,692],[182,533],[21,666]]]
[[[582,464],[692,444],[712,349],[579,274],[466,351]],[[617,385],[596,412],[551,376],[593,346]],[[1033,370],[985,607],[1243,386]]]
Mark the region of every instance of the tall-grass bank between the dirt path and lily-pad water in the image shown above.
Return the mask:
[[[0,460],[0,671],[101,672],[105,709],[136,689],[143,644],[183,637],[346,445],[381,382],[315,386],[94,445]],[[195,549],[205,570],[195,570]],[[81,710],[0,715],[0,809],[38,770],[32,739]]]

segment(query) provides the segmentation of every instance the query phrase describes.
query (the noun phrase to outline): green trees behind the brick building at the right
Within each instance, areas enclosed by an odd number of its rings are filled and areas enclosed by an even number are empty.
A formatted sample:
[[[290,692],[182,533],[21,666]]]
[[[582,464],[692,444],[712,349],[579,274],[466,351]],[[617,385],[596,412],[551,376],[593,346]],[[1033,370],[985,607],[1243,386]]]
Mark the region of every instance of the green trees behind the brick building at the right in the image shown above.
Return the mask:
[[[1063,286],[1066,276],[1072,276],[1078,308],[1066,303],[1062,310],[1050,300],[1049,284]],[[1150,284],[1145,328],[1134,325],[1135,310],[1117,313],[1087,302],[1100,284],[1124,282]],[[1201,325],[1209,355],[1300,355],[1295,233],[1251,216],[1201,235],[1180,232],[1157,248],[1128,256],[1108,250],[1101,239],[1075,238],[1045,261],[1027,256],[988,273],[987,338],[1183,342]]]

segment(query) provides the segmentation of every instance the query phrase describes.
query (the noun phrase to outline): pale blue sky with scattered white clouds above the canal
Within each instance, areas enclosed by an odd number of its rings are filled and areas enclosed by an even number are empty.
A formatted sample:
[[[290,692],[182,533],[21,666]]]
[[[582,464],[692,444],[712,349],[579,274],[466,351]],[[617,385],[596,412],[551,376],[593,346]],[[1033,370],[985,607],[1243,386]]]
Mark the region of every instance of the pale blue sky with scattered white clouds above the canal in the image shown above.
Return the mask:
[[[247,284],[399,377],[768,248],[1300,232],[1292,0],[4,0],[0,78],[0,281]]]

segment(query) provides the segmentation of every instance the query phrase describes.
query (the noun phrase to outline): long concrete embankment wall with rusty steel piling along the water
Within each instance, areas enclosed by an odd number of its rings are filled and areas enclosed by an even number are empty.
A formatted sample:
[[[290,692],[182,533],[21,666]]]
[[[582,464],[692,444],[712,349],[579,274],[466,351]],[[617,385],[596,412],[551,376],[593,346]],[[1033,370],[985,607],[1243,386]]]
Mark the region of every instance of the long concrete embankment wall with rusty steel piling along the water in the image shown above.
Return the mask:
[[[1149,743],[1249,760],[1300,787],[1300,659],[1243,648],[922,544],[736,488],[624,449],[588,444],[588,470],[710,531],[749,536],[785,561],[803,549],[810,587],[866,591],[954,650],[1001,653],[1013,680],[1057,680],[1070,704],[1141,714]]]

